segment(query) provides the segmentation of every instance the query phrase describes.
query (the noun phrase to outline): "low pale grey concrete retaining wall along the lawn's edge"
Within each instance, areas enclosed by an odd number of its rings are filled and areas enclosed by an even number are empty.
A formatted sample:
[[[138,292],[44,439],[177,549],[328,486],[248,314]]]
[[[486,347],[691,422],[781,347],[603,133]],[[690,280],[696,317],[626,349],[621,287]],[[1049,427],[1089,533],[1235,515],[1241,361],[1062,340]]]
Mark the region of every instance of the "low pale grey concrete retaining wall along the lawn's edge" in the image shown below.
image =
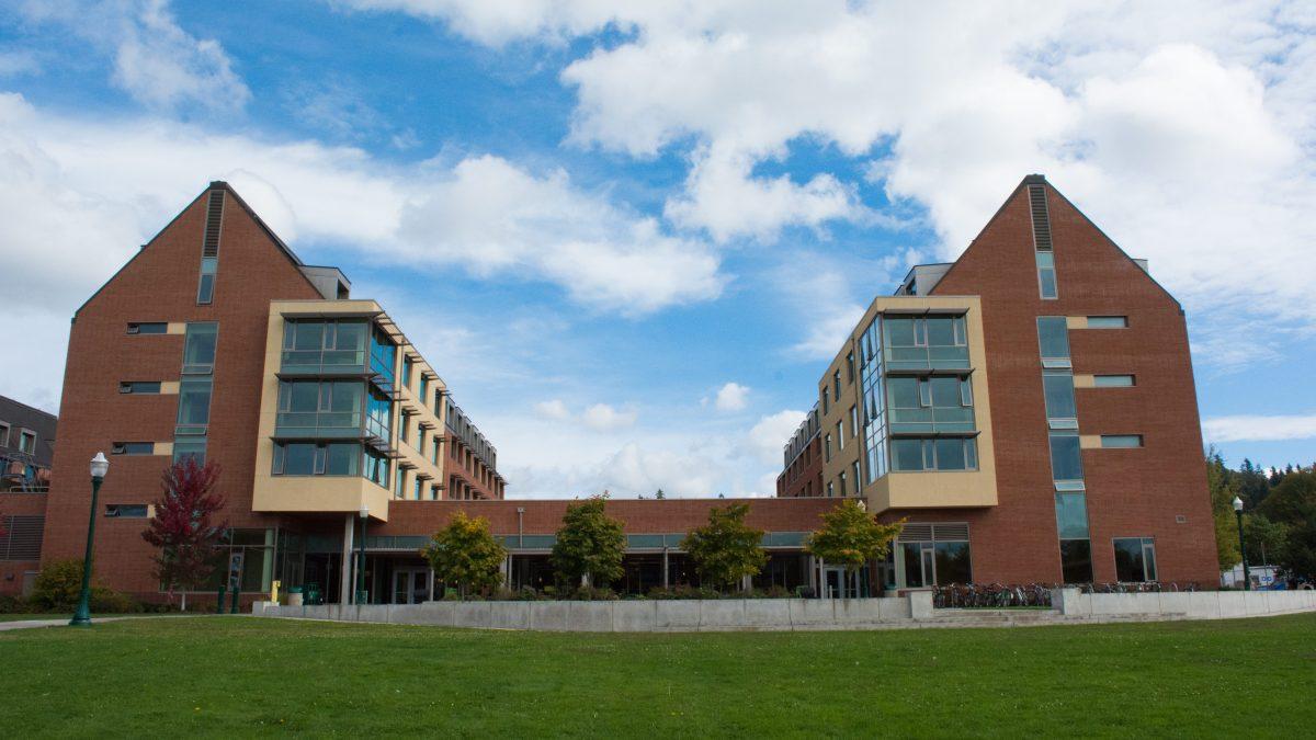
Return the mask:
[[[1054,611],[934,610],[930,591],[887,599],[721,599],[619,602],[426,602],[413,606],[305,606],[257,602],[258,616],[430,624],[549,632],[719,632],[1000,627],[1128,619],[1230,619],[1316,611],[1316,591],[1199,591],[1165,594],[1051,593]],[[982,618],[982,619],[976,619]],[[996,619],[998,621],[992,621]]]

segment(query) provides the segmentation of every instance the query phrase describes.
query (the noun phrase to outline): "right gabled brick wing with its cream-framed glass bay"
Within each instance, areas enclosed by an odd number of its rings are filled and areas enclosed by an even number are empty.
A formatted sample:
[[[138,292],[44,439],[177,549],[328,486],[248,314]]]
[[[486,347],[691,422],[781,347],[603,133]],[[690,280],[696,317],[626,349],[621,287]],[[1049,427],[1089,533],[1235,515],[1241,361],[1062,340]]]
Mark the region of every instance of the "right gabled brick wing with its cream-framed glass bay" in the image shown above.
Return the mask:
[[[1183,309],[1041,175],[873,302],[817,427],[824,495],[907,521],[884,582],[1217,579]]]

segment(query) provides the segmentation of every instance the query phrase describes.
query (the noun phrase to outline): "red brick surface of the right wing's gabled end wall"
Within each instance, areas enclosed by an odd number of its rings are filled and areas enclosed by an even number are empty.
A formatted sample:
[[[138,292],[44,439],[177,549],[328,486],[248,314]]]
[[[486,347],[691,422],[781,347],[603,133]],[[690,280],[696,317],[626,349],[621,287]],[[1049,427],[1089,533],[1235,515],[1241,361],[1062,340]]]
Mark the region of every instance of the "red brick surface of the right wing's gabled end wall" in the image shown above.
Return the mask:
[[[1058,300],[1037,288],[1028,191],[1020,187],[933,294],[982,296],[999,506],[901,512],[967,520],[974,578],[1059,581],[1038,316],[1128,316],[1126,329],[1071,329],[1075,374],[1134,374],[1133,388],[1078,388],[1083,435],[1138,433],[1144,449],[1086,449],[1094,577],[1115,579],[1113,537],[1155,537],[1163,581],[1219,579],[1184,317],[1095,225],[1048,186]],[[1154,269],[1154,265],[1153,265]],[[1175,516],[1187,521],[1178,524]]]

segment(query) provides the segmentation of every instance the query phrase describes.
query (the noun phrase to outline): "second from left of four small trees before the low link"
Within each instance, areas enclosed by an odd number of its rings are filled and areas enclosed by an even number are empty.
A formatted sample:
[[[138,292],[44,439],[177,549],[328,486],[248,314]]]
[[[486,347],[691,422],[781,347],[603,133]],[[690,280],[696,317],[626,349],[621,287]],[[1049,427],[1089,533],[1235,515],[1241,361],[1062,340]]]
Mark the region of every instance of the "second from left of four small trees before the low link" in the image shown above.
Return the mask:
[[[553,568],[570,585],[604,587],[621,578],[626,535],[604,511],[607,494],[569,506],[553,544]]]

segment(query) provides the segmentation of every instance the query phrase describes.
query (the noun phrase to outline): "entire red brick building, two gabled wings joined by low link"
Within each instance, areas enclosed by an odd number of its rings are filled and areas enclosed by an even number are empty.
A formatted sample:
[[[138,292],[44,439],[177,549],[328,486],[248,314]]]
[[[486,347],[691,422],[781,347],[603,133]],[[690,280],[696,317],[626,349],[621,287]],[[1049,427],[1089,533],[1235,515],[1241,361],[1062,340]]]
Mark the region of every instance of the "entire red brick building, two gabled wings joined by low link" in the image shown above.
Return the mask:
[[[750,502],[771,553],[759,586],[1216,582],[1183,313],[1041,176],[954,265],[876,299],[819,391],[778,498]],[[225,183],[74,317],[50,492],[0,496],[43,515],[42,562],[82,554],[99,450],[112,466],[96,575],[142,598],[162,596],[139,533],[162,469],[186,456],[222,469],[249,600],[275,579],[349,600],[343,552],[362,525],[370,600],[429,598],[417,549],[458,510],[503,537],[513,586],[542,586],[569,506],[507,499],[496,449],[384,307],[304,265]],[[857,495],[907,525],[887,562],[844,585],[801,545]],[[628,536],[619,586],[692,581],[679,541],[724,503],[609,502]]]

